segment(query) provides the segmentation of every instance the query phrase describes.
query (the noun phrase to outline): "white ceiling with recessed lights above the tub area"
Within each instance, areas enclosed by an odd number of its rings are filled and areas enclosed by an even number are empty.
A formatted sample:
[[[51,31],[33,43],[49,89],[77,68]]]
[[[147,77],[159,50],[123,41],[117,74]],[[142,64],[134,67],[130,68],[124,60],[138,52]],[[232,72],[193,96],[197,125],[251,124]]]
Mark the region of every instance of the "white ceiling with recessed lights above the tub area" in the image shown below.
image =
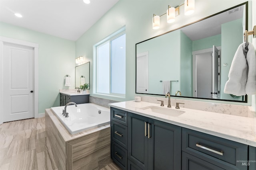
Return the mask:
[[[76,41],[118,0],[0,0],[0,21]],[[14,13],[20,13],[18,18]]]

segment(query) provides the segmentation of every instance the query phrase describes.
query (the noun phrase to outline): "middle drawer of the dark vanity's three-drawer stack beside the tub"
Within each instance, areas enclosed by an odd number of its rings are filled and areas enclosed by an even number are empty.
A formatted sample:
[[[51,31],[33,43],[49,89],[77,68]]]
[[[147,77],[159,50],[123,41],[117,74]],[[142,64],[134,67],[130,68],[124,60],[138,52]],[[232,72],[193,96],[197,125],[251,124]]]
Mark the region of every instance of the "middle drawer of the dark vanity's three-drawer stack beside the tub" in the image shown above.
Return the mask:
[[[127,149],[127,127],[111,121],[111,139]]]

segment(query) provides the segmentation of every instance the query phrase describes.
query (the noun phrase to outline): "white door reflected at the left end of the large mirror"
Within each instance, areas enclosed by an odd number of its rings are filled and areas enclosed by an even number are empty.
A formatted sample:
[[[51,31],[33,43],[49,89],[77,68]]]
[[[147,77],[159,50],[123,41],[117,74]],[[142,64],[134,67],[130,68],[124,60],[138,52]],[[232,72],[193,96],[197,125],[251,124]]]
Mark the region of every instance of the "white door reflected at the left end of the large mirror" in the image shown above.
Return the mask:
[[[136,92],[148,93],[148,52],[136,56]]]

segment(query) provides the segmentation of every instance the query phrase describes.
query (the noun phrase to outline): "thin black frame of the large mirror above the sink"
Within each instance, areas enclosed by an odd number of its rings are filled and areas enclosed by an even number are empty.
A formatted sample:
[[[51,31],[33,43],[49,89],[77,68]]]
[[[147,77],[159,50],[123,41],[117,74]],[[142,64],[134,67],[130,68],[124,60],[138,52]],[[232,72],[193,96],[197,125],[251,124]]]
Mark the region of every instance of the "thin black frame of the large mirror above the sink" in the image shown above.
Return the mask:
[[[181,26],[181,27],[178,27],[178,28],[176,28],[176,29],[172,29],[172,30],[170,30],[170,31],[167,31],[167,32],[165,32],[165,33],[162,33],[162,34],[160,34],[160,35],[157,35],[157,36],[155,36],[155,37],[152,37],[152,38],[150,38],[150,39],[153,39],[153,38],[159,37],[159,36],[161,36],[161,35],[170,33],[170,32],[172,32],[172,31],[178,30],[178,29],[180,29],[180,28],[182,28],[182,27],[186,27],[186,26],[191,25],[191,24],[193,24],[193,23],[197,23],[197,22],[199,22],[199,21],[205,20],[205,19],[210,18],[210,17],[212,17],[212,16],[216,16],[216,15],[221,14],[221,13],[223,13],[223,12],[227,12],[228,10],[231,10],[231,9],[233,9],[233,8],[237,8],[237,7],[242,6],[242,5],[245,5],[245,10],[246,10],[246,12],[245,12],[245,29],[248,30],[248,1],[247,1],[247,2],[244,2],[244,3],[242,3],[242,4],[239,4],[239,5],[233,6],[233,7],[231,7],[231,8],[228,8],[228,9],[226,9],[226,10],[223,10],[223,11],[221,11],[221,12],[218,12],[218,13],[216,13],[216,14],[213,14],[213,15],[210,15],[210,16],[208,16],[208,17],[202,18],[202,19],[200,19],[200,20],[194,21],[194,22],[192,22],[192,23],[188,23],[188,24],[183,25],[183,26]],[[164,94],[137,93],[137,88],[136,88],[136,85],[137,85],[137,62],[136,62],[136,61],[137,61],[137,60],[136,60],[136,57],[137,57],[137,44],[143,43],[143,42],[148,41],[148,40],[150,40],[150,39],[146,39],[146,40],[144,40],[144,41],[141,41],[141,42],[135,44],[135,94],[165,96]],[[173,96],[173,95],[171,95],[171,96]],[[218,101],[240,102],[240,103],[247,103],[247,102],[248,102],[248,96],[247,96],[247,95],[245,95],[245,96],[242,97],[242,99],[243,99],[244,101],[239,101],[239,100],[225,100],[225,99],[213,99],[213,98],[196,98],[196,97],[189,97],[189,96],[173,96],[173,97],[178,97],[178,98],[194,98],[194,99],[206,99],[206,100],[218,100]]]

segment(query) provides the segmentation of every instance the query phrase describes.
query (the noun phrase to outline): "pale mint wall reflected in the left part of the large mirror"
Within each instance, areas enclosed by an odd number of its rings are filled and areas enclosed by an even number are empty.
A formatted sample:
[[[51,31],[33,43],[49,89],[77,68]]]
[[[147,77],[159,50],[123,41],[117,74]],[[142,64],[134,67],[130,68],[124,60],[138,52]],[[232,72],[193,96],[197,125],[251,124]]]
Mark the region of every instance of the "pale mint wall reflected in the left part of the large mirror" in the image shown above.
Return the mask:
[[[170,39],[176,41],[170,41]],[[149,94],[165,94],[163,82],[160,80],[180,80],[180,72],[177,71],[180,70],[179,42],[180,30],[176,30],[137,45],[137,54],[148,51]],[[180,81],[171,82],[170,86],[170,94],[174,95],[177,90],[180,90]]]

